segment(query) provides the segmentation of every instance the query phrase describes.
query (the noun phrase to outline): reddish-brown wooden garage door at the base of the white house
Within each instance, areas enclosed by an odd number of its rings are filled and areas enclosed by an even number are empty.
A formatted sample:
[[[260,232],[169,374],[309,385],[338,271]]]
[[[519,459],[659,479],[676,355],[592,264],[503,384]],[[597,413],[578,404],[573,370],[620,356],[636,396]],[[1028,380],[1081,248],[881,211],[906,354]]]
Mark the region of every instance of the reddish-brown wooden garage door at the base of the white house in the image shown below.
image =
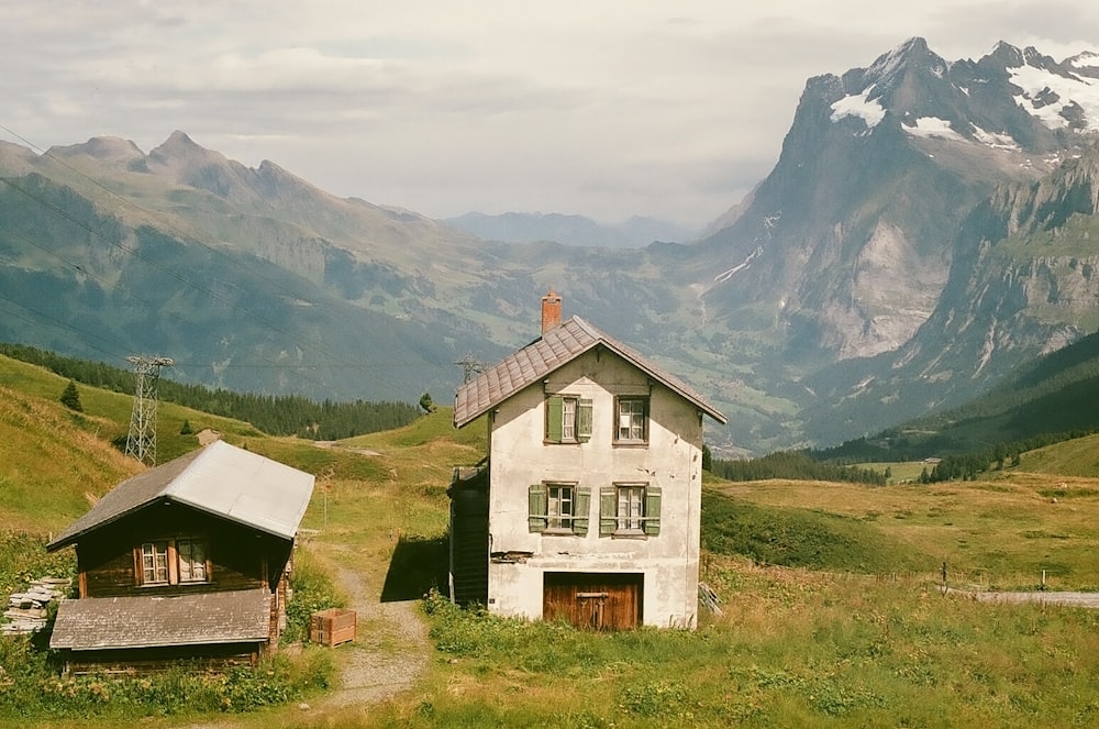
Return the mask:
[[[645,576],[592,572],[547,572],[542,619],[590,630],[628,630],[642,622]]]

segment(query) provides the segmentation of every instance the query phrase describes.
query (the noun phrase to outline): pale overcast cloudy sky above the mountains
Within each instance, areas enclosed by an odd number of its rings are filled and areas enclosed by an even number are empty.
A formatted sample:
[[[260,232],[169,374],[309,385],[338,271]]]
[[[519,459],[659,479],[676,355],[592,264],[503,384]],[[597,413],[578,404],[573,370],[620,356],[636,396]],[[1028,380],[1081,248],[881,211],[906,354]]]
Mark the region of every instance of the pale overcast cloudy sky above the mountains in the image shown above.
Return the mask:
[[[701,228],[763,179],[811,76],[920,35],[1099,46],[1091,0],[4,0],[0,140],[174,130],[433,218]],[[9,131],[10,130],[10,131]]]

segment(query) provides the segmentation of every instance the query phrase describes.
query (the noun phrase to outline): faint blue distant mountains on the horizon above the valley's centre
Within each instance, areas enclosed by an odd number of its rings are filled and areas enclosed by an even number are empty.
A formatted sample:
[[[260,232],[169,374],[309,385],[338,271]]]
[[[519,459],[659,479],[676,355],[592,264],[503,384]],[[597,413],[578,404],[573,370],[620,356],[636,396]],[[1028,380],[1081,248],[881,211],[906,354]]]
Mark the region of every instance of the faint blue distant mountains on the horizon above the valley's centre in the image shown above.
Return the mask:
[[[499,216],[467,212],[441,222],[487,241],[506,243],[552,241],[562,245],[639,248],[653,241],[684,242],[695,236],[691,231],[675,223],[640,216],[613,225],[559,212],[506,212]]]

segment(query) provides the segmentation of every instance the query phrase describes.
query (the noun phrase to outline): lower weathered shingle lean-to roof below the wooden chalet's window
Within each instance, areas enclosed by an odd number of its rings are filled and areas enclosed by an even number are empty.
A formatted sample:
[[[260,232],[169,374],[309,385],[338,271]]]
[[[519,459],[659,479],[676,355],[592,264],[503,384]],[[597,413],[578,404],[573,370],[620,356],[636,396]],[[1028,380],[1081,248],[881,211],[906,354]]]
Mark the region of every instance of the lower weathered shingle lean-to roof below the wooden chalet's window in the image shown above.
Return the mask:
[[[177,596],[62,600],[49,648],[93,651],[267,640],[271,594],[263,588]]]

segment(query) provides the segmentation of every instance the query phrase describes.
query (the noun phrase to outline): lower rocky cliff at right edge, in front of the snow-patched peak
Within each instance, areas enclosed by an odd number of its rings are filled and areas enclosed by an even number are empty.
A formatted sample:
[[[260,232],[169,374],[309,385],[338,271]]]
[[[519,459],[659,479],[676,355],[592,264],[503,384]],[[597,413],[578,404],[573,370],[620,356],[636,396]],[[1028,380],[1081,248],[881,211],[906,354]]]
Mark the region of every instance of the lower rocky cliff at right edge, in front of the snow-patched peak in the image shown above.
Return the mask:
[[[884,428],[962,402],[1020,363],[1097,331],[1099,145],[979,203],[954,241],[932,316],[903,346],[861,362],[857,373],[833,367],[810,377],[822,397],[807,420],[828,411],[830,428]]]

